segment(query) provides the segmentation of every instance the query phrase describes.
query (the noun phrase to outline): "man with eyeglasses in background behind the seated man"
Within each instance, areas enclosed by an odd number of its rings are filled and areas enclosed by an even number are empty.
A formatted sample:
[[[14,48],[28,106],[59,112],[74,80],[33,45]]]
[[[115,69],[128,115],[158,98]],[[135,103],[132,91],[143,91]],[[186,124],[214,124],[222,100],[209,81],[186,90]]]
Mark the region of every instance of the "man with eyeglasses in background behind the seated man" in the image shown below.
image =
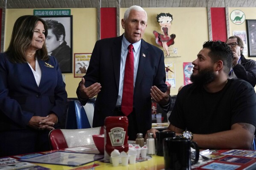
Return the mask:
[[[244,43],[238,36],[231,36],[226,42],[233,51],[233,63],[228,78],[240,78],[256,85],[256,61],[244,58]]]

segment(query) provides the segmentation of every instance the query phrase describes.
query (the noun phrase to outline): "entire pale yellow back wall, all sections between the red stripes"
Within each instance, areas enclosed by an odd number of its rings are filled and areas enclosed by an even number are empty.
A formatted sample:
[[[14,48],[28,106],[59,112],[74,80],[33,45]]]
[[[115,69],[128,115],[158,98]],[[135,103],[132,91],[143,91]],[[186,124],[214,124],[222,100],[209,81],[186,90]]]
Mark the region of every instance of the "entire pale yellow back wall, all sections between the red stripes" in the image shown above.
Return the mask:
[[[143,39],[158,46],[155,42],[153,31],[160,32],[159,23],[156,20],[157,14],[170,13],[173,21],[170,34],[175,34],[175,43],[170,46],[177,48],[177,56],[165,58],[165,62],[175,63],[176,88],[171,89],[171,95],[176,95],[180,85],[183,85],[183,62],[191,62],[197,57],[202,49],[203,42],[209,40],[208,18],[206,8],[144,8],[148,15],[147,29]],[[229,8],[229,13],[235,9],[244,12],[246,19],[256,18],[256,8]],[[120,35],[124,29],[121,26],[121,19],[126,8],[120,9]],[[33,9],[6,9],[4,49],[9,45],[12,28],[15,20],[21,15],[33,14]],[[97,40],[97,9],[76,8],[71,9],[73,15],[73,57],[74,53],[91,53]],[[245,22],[235,25],[230,22],[230,35],[232,31],[246,31]],[[163,49],[162,47],[158,46]],[[247,56],[245,56],[248,58]],[[254,58],[250,58],[254,59]],[[74,61],[73,61],[74,63]],[[73,66],[74,67],[74,66]],[[76,89],[81,78],[74,78],[74,73],[65,73],[66,90],[68,98],[76,98]]]

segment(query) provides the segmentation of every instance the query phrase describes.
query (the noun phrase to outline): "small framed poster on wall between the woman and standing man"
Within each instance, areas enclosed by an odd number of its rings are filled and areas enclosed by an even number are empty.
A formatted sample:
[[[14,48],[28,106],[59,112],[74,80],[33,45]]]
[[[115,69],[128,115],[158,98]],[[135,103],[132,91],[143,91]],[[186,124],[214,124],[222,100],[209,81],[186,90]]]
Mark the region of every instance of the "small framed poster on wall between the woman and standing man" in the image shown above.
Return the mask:
[[[74,54],[74,77],[83,77],[86,74],[91,59],[91,53]]]

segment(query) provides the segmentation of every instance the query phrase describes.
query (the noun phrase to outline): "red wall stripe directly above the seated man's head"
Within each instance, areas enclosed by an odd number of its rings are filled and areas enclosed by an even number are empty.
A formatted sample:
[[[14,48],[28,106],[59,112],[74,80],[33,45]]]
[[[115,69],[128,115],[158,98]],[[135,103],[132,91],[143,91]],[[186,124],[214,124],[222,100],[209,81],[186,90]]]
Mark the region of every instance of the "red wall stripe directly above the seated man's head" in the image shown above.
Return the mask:
[[[225,8],[211,8],[212,40],[227,40]]]

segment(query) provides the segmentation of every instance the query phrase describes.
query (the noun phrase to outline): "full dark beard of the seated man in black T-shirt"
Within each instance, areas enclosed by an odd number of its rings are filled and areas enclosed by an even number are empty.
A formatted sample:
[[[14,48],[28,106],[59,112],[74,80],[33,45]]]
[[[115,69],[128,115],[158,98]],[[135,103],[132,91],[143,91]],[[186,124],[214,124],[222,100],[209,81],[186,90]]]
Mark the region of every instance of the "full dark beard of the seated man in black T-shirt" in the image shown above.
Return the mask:
[[[192,74],[190,76],[190,80],[195,84],[209,84],[212,81],[214,81],[216,78],[216,75],[212,71],[212,68],[206,68],[203,70],[200,70],[197,75]]]

